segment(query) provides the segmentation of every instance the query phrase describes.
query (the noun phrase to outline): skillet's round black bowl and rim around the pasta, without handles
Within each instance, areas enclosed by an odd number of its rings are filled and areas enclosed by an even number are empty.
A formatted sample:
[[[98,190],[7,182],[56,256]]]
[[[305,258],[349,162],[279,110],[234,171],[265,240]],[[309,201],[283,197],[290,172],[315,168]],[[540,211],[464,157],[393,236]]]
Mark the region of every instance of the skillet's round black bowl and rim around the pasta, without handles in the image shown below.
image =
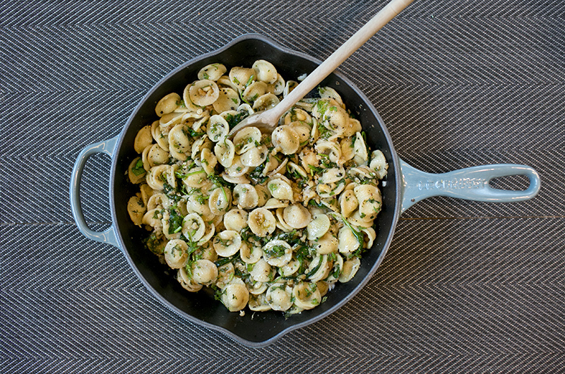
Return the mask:
[[[369,281],[380,265],[390,245],[400,214],[399,163],[390,135],[367,97],[347,78],[333,73],[321,85],[328,85],[340,93],[347,109],[351,109],[361,121],[371,148],[382,150],[389,164],[386,186],[381,188],[383,210],[378,217],[376,241],[373,248],[364,254],[361,268],[352,281],[336,284],[335,289],[328,293],[325,303],[287,319],[283,313],[274,311],[253,313],[247,310],[241,317],[239,313],[228,312],[219,301],[214,300],[211,292],[203,290],[193,294],[182,289],[182,286],[173,279],[174,272],[167,270],[166,265],[161,265],[155,255],[144,248],[141,239],[147,236],[147,231],[134,226],[126,210],[126,202],[137,192],[126,176],[129,162],[136,157],[136,152],[133,150],[136,133],[141,127],[157,119],[154,111],[157,101],[170,92],[182,95],[184,87],[196,79],[196,73],[203,66],[220,62],[228,69],[232,66],[249,67],[257,59],[266,59],[273,63],[283,78],[296,78],[303,73],[309,73],[320,63],[317,59],[280,47],[261,35],[244,35],[218,51],[187,62],[157,83],[131,114],[119,138],[117,152],[112,160],[110,179],[112,219],[117,227],[119,241],[131,267],[145,286],[160,301],[185,318],[225,332],[248,346],[270,344],[285,332],[325,317],[352,298]]]

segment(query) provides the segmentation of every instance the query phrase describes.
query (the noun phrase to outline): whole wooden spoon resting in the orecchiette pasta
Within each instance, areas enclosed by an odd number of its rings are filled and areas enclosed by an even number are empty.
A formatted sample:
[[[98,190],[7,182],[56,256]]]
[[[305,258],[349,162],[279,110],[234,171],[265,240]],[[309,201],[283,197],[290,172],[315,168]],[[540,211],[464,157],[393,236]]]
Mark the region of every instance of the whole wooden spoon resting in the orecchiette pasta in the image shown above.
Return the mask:
[[[359,47],[367,42],[377,31],[381,30],[388,21],[410,5],[412,1],[413,0],[392,0],[390,3],[386,4],[379,13],[376,13],[369,22],[355,32],[341,47],[336,49],[335,52],[312,71],[302,83],[297,85],[283,101],[278,103],[273,109],[258,111],[239,122],[237,126],[232,128],[229,136],[233,136],[237,131],[249,126],[255,126],[263,133],[272,133],[278,126],[280,117],[283,116],[292,105],[296,104],[299,99],[302,99],[308,92],[316,88],[316,85],[329,76],[347,57],[351,56],[353,52],[359,49]]]

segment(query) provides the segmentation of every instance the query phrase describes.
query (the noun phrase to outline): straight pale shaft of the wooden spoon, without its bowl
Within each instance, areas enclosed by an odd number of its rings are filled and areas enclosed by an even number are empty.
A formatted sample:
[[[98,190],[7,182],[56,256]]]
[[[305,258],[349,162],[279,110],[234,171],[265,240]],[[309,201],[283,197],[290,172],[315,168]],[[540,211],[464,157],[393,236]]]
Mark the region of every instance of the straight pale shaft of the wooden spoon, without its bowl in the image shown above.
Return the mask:
[[[299,99],[302,99],[308,92],[316,88],[324,78],[330,75],[335,68],[340,66],[351,56],[353,52],[357,51],[367,40],[371,38],[377,31],[381,30],[384,25],[393,19],[398,13],[403,11],[414,0],[392,0],[386,4],[384,8],[376,13],[376,15],[369,20],[362,28],[357,30],[355,34],[350,37],[347,42],[343,43],[341,47],[335,50],[331,56],[323,61],[314,71],[312,71],[306,79],[302,81],[297,87],[290,92],[287,97],[283,99],[275,108],[273,108],[272,118],[273,122],[285,114],[285,111],[290,109]]]

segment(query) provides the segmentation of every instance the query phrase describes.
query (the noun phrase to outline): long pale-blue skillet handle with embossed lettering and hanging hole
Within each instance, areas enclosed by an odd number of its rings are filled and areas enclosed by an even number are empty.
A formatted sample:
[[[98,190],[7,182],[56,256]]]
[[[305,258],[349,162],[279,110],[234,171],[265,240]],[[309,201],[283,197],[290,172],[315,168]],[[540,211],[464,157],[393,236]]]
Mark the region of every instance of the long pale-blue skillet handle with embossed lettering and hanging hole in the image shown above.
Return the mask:
[[[534,198],[540,191],[540,175],[532,167],[493,164],[468,167],[444,174],[430,174],[400,160],[403,177],[402,211],[432,196],[449,196],[489,203],[511,203]],[[503,176],[527,176],[530,186],[523,191],[499,190],[489,181]]]

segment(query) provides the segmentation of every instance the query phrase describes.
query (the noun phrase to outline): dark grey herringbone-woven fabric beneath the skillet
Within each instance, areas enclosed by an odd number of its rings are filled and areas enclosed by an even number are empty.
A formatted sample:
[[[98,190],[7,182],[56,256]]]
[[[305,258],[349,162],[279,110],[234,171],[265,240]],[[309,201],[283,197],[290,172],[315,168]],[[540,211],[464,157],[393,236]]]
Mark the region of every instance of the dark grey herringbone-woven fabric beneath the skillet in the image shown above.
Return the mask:
[[[534,200],[424,200],[337,313],[248,349],[162,306],[69,207],[78,152],[162,76],[246,32],[325,58],[386,1],[0,1],[1,373],[565,371],[565,4],[415,0],[340,71],[400,157],[530,164]],[[108,157],[81,186],[109,226]],[[496,181],[524,188],[525,180]]]

